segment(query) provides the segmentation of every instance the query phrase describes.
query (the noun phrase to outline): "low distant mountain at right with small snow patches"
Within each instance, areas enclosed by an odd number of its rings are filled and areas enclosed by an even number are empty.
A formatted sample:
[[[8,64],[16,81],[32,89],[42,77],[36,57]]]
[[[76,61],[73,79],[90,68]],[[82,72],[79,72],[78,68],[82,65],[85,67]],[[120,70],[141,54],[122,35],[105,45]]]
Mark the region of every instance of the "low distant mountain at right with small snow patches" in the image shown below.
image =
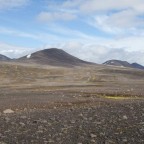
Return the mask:
[[[130,68],[138,68],[138,69],[144,69],[144,66],[138,64],[138,63],[128,63],[127,61],[121,61],[121,60],[109,60],[104,62],[105,65],[112,65],[112,66],[120,66],[120,67],[130,67]]]

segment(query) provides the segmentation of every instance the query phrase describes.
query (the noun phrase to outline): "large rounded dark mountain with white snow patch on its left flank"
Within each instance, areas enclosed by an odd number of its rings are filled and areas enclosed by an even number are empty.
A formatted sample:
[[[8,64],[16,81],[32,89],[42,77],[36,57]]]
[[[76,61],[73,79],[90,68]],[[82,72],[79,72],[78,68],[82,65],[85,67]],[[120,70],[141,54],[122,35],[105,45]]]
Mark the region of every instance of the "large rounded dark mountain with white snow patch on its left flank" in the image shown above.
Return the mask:
[[[57,48],[44,49],[30,55],[21,57],[18,59],[18,61],[54,66],[79,66],[83,64],[93,64],[80,60],[68,54],[67,52]]]

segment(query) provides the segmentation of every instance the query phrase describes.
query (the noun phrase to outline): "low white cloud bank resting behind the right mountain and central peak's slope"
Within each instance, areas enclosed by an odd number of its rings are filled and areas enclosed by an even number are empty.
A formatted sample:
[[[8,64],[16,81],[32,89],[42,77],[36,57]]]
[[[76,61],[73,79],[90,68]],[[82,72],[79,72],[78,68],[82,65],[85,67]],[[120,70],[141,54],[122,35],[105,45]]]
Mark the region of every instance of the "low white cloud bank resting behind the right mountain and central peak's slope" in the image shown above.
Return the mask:
[[[111,48],[102,44],[85,45],[72,41],[62,44],[61,48],[76,57],[95,63],[103,63],[110,59],[118,59],[130,63],[138,62],[144,65],[144,52],[140,51],[127,51],[123,48]]]

